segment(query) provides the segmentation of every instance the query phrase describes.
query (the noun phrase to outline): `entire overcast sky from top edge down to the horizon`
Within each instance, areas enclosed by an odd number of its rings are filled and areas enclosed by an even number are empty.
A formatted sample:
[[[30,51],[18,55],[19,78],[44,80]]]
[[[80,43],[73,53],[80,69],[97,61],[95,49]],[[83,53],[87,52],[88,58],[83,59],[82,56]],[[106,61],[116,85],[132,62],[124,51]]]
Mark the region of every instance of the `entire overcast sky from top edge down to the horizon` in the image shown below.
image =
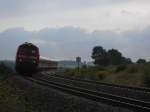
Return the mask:
[[[149,31],[150,0],[0,0],[0,44],[12,49],[10,54],[1,48],[1,59],[13,58],[24,41],[58,59],[90,60],[94,45],[119,49],[133,60],[150,59]]]

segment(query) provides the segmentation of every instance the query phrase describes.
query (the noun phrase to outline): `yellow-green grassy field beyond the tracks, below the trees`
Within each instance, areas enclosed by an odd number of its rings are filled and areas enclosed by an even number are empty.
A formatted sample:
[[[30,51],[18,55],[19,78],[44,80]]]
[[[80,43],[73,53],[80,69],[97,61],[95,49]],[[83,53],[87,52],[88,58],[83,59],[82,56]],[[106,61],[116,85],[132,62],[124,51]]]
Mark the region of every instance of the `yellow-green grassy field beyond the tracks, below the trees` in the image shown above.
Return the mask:
[[[81,79],[90,79],[100,82],[150,87],[150,64],[130,64],[109,67],[91,67],[67,69],[66,74]]]

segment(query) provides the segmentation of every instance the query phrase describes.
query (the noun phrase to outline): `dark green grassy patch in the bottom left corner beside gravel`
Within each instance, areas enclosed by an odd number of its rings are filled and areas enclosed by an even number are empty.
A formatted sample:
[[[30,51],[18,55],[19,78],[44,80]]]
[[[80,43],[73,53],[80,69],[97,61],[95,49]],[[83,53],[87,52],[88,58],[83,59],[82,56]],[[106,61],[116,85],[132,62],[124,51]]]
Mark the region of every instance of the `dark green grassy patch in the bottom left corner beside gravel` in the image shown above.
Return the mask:
[[[0,112],[32,112],[24,92],[7,82],[9,74],[11,70],[0,65]]]

